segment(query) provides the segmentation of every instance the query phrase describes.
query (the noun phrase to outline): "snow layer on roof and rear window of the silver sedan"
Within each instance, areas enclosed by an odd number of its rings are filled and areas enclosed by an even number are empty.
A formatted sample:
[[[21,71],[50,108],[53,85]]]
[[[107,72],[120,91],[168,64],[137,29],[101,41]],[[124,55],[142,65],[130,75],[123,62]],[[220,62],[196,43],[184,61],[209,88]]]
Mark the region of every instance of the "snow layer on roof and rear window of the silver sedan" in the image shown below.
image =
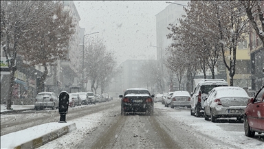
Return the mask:
[[[216,87],[214,90],[217,91],[217,95],[215,97],[221,98],[221,97],[247,97],[248,93],[245,92],[243,88],[236,87],[236,86],[221,86]]]

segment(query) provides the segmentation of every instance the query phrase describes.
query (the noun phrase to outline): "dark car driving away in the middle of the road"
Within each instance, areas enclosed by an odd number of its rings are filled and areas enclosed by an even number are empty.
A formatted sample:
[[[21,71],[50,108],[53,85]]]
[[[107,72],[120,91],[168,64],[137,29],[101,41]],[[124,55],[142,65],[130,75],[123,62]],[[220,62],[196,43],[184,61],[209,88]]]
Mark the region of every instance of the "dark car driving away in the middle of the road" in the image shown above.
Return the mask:
[[[153,115],[154,102],[153,97],[147,89],[130,88],[119,95],[121,99],[121,115],[130,113],[144,113]]]

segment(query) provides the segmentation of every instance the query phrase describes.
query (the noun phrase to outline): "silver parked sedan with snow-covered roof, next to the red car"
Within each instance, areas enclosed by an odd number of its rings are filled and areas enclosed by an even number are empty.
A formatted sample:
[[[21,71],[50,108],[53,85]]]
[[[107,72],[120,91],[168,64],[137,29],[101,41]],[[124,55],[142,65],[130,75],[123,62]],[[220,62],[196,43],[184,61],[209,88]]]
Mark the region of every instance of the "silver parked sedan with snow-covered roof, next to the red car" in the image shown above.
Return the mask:
[[[241,121],[249,98],[248,93],[240,87],[213,88],[208,97],[203,97],[204,119],[209,120],[210,117],[215,122],[219,117],[236,117]]]

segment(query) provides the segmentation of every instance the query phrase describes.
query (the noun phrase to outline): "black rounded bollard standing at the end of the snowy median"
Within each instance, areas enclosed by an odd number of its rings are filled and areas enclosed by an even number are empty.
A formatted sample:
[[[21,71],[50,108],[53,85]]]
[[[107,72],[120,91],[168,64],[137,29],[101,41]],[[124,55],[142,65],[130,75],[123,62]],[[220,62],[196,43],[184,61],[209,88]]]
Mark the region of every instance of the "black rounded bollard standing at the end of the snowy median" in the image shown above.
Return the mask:
[[[67,123],[66,114],[68,112],[69,106],[69,94],[66,91],[60,93],[58,97],[58,113],[61,115],[60,121],[58,123]]]

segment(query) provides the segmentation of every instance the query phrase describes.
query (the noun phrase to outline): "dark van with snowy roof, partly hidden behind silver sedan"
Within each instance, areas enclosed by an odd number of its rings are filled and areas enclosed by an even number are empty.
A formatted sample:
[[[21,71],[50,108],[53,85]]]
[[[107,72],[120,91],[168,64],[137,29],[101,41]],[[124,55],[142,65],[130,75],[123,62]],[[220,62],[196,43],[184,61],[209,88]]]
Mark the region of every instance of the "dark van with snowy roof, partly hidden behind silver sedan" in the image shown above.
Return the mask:
[[[228,82],[223,79],[201,79],[195,90],[190,93],[190,115],[196,115],[196,117],[201,117],[204,113],[203,103],[201,100],[206,97],[208,93],[217,86],[228,86]]]

